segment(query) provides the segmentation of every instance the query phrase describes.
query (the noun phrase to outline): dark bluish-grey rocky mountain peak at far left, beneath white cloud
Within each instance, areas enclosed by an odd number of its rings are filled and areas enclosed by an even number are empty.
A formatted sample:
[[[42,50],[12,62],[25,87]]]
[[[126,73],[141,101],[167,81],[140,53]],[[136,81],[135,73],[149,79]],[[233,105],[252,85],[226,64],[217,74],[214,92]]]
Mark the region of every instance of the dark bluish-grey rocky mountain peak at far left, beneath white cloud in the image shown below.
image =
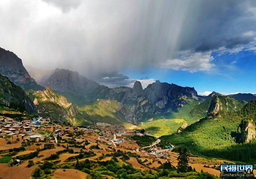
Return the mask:
[[[0,47],[0,74],[7,76],[22,89],[43,89],[31,78],[24,68],[22,61],[13,52]]]

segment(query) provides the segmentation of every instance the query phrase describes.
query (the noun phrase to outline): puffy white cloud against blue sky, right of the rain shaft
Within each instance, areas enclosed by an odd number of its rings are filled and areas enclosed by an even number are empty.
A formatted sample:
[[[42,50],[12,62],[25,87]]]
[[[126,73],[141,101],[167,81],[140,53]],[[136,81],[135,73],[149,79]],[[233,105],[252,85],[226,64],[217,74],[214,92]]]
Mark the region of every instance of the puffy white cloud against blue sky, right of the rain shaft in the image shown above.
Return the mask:
[[[171,68],[174,70],[183,70],[189,72],[207,71],[215,64],[210,63],[214,59],[210,52],[196,52],[182,51],[179,53],[180,57],[177,59],[169,59],[162,63],[162,68]]]

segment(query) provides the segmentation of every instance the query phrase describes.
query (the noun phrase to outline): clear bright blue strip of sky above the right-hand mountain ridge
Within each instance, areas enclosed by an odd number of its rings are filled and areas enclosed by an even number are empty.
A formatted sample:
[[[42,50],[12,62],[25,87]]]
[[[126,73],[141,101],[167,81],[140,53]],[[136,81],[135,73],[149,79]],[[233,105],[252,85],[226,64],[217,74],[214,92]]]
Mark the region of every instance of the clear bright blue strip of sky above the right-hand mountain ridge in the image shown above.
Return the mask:
[[[212,53],[214,67],[207,71],[188,72],[147,66],[126,69],[132,79],[155,79],[179,86],[194,87],[197,92],[216,91],[229,93],[256,93],[256,54],[241,51],[233,54]]]

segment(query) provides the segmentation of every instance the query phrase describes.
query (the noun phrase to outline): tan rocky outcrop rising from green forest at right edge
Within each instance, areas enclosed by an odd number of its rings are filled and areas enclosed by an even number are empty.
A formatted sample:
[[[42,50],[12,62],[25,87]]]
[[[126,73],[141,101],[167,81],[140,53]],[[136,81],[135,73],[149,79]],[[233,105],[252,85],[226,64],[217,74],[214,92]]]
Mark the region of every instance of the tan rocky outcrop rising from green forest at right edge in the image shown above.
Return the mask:
[[[253,121],[251,120],[251,121],[243,122],[240,142],[248,143],[255,137],[256,137],[256,131],[255,131],[255,126],[253,124]]]

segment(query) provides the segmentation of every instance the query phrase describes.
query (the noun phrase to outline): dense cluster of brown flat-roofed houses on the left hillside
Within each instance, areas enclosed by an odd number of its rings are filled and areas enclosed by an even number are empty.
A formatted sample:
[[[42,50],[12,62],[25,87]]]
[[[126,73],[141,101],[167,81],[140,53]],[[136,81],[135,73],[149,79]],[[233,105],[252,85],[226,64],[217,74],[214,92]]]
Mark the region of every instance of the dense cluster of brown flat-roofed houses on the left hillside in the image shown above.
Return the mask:
[[[54,124],[48,124],[50,119],[33,118],[24,119],[22,122],[15,121],[12,118],[5,118],[4,122],[0,122],[0,137],[2,138],[18,138],[20,140],[30,140],[36,138],[37,141],[42,140],[46,135],[41,135],[39,131],[50,131],[53,134],[64,134],[65,130],[56,129]],[[44,126],[41,124],[44,123]]]

